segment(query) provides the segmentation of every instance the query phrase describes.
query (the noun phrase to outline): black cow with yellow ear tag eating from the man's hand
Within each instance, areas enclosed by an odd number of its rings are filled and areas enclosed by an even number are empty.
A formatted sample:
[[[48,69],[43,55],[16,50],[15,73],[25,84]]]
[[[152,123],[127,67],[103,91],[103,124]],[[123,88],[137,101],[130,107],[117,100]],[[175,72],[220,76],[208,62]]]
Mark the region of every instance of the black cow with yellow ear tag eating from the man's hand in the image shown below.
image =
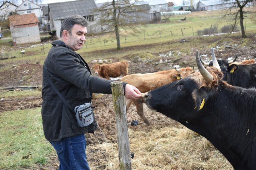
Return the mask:
[[[256,90],[232,86],[207,70],[151,90],[146,105],[207,138],[235,170],[256,169]]]

